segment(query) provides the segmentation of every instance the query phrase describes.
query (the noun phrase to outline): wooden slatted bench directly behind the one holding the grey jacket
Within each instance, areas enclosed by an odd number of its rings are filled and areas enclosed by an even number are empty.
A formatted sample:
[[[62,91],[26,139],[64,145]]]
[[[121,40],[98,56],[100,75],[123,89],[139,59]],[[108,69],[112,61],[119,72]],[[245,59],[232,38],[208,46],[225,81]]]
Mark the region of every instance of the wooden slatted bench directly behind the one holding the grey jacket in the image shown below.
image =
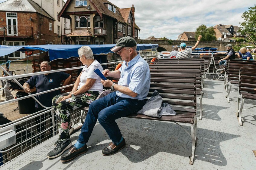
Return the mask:
[[[179,63],[173,63],[167,59],[166,62],[164,60],[160,60],[160,62],[148,62],[149,68],[151,72],[155,73],[194,73],[196,74],[196,88],[197,95],[199,96],[199,119],[202,119],[203,116],[203,92],[202,92],[202,76],[201,76],[201,64],[200,61],[190,61],[189,63],[186,60],[179,61]],[[185,62],[184,62],[185,61]]]

